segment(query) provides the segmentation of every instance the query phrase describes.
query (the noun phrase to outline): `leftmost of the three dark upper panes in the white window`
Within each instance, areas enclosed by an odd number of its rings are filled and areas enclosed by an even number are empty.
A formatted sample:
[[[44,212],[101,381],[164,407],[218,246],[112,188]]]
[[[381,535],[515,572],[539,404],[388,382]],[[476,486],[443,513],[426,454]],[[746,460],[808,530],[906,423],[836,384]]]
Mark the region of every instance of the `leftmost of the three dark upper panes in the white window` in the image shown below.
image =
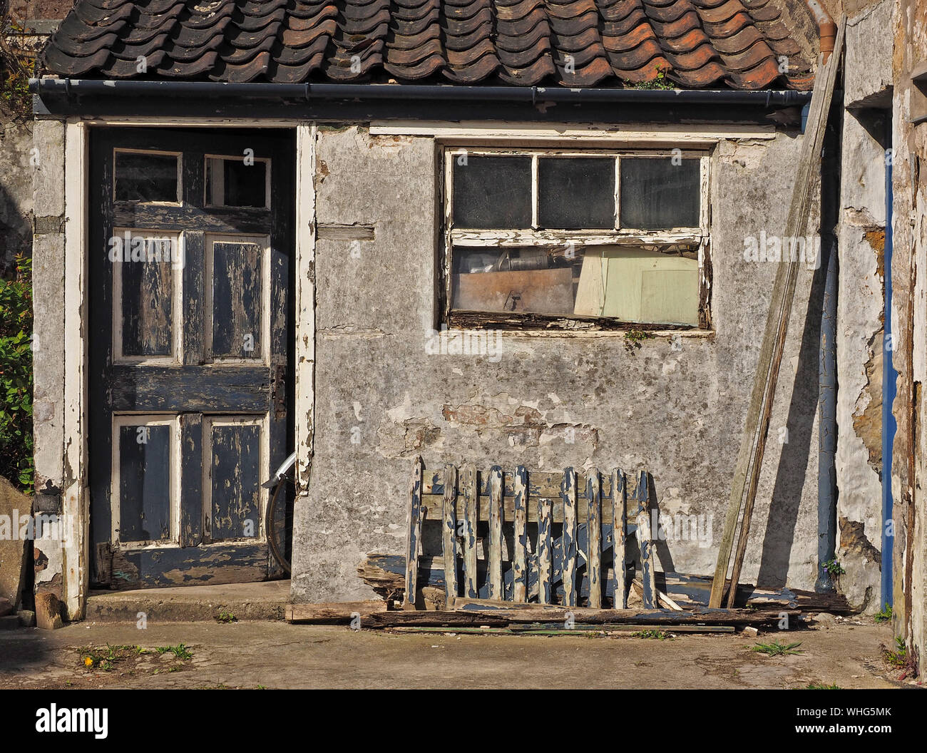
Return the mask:
[[[531,226],[531,158],[449,155],[453,220],[480,229]]]

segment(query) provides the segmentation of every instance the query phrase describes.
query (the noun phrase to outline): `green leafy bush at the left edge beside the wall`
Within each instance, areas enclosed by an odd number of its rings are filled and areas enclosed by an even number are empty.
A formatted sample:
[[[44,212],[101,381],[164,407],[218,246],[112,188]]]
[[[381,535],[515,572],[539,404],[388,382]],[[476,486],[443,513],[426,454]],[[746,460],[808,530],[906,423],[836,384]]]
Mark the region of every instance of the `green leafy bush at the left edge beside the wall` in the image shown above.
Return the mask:
[[[0,280],[0,476],[32,491],[32,260]]]

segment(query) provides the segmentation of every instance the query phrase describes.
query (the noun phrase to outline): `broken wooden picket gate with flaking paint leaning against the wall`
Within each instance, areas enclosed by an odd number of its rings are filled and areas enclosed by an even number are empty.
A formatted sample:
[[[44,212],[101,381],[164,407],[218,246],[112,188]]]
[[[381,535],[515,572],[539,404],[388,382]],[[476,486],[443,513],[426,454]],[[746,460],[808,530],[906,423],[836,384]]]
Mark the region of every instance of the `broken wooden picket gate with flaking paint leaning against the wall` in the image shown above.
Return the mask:
[[[403,606],[414,608],[422,524],[438,520],[448,608],[460,598],[627,607],[630,529],[641,550],[644,606],[656,608],[650,482],[641,471],[629,488],[620,468],[483,472],[467,464],[427,475],[416,458]]]

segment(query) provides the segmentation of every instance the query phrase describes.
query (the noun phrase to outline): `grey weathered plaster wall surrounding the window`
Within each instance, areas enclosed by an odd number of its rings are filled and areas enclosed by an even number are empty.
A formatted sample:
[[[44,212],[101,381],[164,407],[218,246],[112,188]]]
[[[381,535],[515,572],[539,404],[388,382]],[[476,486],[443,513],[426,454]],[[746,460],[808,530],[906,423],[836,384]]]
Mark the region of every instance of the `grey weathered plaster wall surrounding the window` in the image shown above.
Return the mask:
[[[506,332],[492,363],[425,352],[436,316],[434,142],[320,128],[316,227],[324,236],[326,225],[369,225],[374,238],[316,247],[315,455],[296,510],[294,600],[371,595],[355,568],[369,552],[403,552],[418,453],[426,467],[648,468],[663,515],[712,524],[710,545],[661,543],[660,568],[711,573],[776,272],[744,261],[744,237],[784,235],[799,147],[779,134],[717,148],[714,334],[653,338],[631,355],[620,333]],[[800,275],[743,573],[804,588],[818,540],[813,281],[820,290],[822,274]]]

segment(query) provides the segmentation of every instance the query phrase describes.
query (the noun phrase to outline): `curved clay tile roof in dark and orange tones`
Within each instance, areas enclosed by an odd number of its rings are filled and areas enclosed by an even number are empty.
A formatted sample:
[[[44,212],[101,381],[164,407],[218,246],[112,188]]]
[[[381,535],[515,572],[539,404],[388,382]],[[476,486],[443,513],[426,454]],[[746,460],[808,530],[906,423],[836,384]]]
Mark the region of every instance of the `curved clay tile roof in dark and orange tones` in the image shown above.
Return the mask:
[[[564,86],[663,71],[686,88],[806,89],[800,58],[776,0],[77,0],[44,67],[69,78]]]

